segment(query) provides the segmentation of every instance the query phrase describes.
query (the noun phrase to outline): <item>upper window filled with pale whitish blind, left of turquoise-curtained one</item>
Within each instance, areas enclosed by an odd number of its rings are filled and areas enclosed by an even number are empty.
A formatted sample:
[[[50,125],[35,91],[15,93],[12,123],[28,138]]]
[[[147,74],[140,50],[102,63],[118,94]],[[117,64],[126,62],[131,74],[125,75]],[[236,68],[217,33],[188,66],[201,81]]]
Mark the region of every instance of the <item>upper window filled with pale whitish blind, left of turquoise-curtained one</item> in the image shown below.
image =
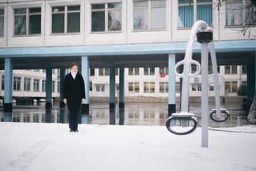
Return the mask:
[[[153,30],[166,28],[165,0],[133,1],[133,29]]]

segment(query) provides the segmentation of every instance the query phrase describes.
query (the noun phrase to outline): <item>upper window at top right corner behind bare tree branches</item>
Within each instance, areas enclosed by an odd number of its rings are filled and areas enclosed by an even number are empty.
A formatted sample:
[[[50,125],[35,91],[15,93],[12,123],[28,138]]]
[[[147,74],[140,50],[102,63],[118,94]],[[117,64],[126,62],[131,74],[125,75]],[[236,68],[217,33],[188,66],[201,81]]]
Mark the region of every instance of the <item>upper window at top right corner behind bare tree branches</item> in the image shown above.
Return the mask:
[[[256,16],[252,15],[255,14],[255,6],[252,6],[252,1],[245,1],[245,6],[243,6],[244,1],[245,0],[227,0],[227,26],[242,26],[256,24]]]

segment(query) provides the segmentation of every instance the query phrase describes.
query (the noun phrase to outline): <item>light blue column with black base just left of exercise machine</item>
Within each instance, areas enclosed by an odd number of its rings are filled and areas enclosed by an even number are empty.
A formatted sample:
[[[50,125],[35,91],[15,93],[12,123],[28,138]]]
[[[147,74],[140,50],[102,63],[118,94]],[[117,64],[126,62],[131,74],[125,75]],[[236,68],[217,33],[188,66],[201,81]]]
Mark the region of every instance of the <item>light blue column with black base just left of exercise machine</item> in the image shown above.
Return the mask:
[[[175,97],[175,54],[169,54],[168,56],[168,73],[169,73],[169,83],[168,83],[168,115],[176,112],[176,97]]]

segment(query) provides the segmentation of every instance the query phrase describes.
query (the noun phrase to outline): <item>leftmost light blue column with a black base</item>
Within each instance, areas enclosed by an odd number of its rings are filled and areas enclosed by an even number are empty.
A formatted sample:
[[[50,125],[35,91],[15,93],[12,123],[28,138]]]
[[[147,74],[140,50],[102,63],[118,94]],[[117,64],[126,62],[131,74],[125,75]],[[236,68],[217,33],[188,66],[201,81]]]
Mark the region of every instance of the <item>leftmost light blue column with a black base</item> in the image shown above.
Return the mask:
[[[4,61],[4,112],[12,111],[12,70],[11,59],[6,58]]]

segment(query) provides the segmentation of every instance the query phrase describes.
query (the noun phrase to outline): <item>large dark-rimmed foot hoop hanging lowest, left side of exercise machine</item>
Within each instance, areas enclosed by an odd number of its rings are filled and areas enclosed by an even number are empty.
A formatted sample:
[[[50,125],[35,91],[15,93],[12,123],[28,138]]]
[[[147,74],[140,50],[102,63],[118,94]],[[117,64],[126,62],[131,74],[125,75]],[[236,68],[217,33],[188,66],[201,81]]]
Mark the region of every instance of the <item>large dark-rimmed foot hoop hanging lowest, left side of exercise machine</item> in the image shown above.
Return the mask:
[[[194,124],[194,127],[191,129],[191,130],[188,130],[186,132],[183,132],[183,133],[178,133],[178,132],[175,132],[174,130],[172,130],[170,128],[170,122],[172,120],[192,120],[195,124]],[[187,135],[187,134],[190,134],[192,133],[198,126],[198,121],[195,119],[195,117],[175,117],[175,116],[170,116],[167,120],[166,120],[166,128],[170,131],[170,133],[173,133],[175,135]]]

